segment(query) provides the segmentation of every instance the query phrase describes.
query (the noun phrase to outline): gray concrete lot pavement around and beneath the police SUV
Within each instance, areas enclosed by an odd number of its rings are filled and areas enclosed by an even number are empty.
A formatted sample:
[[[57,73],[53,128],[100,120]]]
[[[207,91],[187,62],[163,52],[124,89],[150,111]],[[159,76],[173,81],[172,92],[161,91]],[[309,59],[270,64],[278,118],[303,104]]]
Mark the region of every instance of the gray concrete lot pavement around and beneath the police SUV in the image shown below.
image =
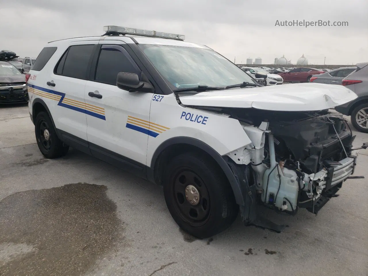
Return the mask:
[[[354,131],[356,145],[368,135]],[[367,174],[368,150],[355,175]],[[70,150],[44,159],[26,106],[0,107],[0,275],[368,275],[367,179],[277,234],[240,217],[208,240],[179,230],[162,188]]]

